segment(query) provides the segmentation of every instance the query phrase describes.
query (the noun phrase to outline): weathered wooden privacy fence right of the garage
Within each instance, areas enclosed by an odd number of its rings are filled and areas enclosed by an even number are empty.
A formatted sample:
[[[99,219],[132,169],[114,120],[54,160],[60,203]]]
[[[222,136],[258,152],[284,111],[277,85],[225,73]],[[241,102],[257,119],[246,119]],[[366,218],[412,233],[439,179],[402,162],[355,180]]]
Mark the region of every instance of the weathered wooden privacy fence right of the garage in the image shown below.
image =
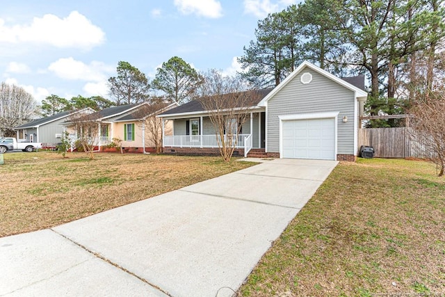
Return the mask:
[[[424,157],[426,149],[410,138],[410,128],[366,128],[359,129],[359,148],[374,147],[376,158]]]

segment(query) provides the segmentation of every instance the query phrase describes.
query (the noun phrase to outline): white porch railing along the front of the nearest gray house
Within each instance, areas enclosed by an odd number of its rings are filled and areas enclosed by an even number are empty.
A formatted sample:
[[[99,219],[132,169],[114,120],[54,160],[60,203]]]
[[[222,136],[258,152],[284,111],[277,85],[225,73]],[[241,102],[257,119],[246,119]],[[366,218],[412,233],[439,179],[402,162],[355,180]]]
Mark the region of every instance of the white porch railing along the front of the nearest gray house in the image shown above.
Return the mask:
[[[225,135],[225,142],[235,143],[236,148],[243,148],[244,155],[252,149],[252,134],[238,134],[238,136]],[[181,135],[181,136],[164,136],[165,147],[218,147],[219,135]]]

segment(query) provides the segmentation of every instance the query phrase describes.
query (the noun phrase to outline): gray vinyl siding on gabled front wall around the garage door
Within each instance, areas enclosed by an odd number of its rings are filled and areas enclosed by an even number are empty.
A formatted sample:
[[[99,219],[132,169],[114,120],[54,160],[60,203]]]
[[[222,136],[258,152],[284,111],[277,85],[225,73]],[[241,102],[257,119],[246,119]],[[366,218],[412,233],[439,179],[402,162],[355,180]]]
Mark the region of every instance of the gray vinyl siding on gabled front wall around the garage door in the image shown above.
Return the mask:
[[[300,82],[301,74],[309,72],[312,81]],[[303,69],[292,81],[268,100],[267,107],[267,152],[280,152],[279,115],[300,113],[339,112],[337,118],[337,154],[354,152],[354,102],[352,90],[339,85],[309,68]],[[343,116],[348,122],[343,122]]]

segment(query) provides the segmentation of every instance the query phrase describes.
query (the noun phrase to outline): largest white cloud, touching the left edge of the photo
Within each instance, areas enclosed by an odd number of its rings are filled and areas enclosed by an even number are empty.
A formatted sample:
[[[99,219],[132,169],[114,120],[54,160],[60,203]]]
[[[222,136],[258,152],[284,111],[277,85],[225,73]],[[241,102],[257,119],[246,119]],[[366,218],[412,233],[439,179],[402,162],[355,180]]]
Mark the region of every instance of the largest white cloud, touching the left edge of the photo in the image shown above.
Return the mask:
[[[7,26],[0,19],[0,42],[33,42],[54,47],[90,49],[102,45],[105,33],[77,11],[60,19],[56,15],[34,17],[31,24]]]

